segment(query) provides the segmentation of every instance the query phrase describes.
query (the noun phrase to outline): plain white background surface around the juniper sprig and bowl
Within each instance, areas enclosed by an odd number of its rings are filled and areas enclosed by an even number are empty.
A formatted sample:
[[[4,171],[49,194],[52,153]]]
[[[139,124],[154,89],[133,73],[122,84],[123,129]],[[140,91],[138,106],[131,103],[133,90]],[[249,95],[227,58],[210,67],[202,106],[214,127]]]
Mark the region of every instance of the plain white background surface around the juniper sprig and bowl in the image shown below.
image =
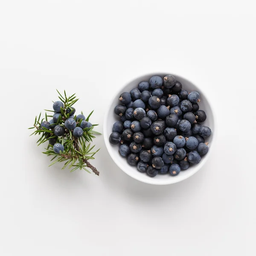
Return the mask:
[[[177,3],[176,3],[177,2]],[[0,1],[0,255],[255,255],[253,1]],[[102,120],[117,87],[177,73],[212,100],[203,169],[169,186],[133,180],[102,136],[100,176],[47,167],[34,118],[77,93]]]

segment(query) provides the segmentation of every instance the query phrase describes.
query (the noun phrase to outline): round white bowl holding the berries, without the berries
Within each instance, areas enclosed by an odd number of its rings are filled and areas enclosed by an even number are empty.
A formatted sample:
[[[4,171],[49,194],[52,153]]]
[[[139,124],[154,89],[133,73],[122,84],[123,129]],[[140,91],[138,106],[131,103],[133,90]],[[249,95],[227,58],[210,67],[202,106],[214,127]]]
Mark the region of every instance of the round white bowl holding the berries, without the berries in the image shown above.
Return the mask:
[[[136,180],[140,180],[145,183],[149,184],[155,184],[155,185],[166,185],[166,184],[172,184],[172,183],[177,183],[182,180],[187,179],[188,177],[192,176],[198,170],[204,166],[204,164],[207,162],[207,159],[209,158],[209,155],[211,153],[211,147],[212,143],[214,140],[214,133],[215,133],[215,121],[214,121],[214,113],[212,111],[212,106],[209,104],[209,100],[201,90],[201,88],[197,87],[195,84],[193,84],[191,81],[181,77],[174,75],[177,81],[180,81],[182,84],[182,90],[187,90],[188,92],[191,91],[198,91],[200,93],[200,99],[201,102],[199,103],[199,109],[202,109],[206,112],[207,114],[207,119],[203,123],[203,125],[207,125],[211,128],[212,130],[212,135],[206,139],[207,142],[209,142],[209,152],[202,157],[201,162],[196,165],[192,165],[189,167],[189,169],[185,171],[181,171],[179,175],[177,176],[171,176],[169,174],[166,175],[161,175],[158,174],[155,177],[150,177],[146,173],[141,173],[137,170],[136,166],[130,166],[127,161],[126,157],[122,157],[119,154],[119,145],[112,145],[109,142],[109,136],[112,133],[112,128],[113,124],[116,121],[119,121],[119,116],[117,116],[114,113],[114,108],[116,105],[119,104],[119,96],[123,92],[130,92],[131,89],[136,88],[139,84],[140,81],[149,81],[151,76],[161,76],[162,78],[166,76],[167,74],[172,74],[172,73],[152,73],[144,76],[140,76],[136,79],[133,79],[130,81],[128,84],[125,84],[124,87],[120,87],[116,90],[115,96],[113,100],[110,103],[110,106],[107,109],[107,112],[105,114],[105,119],[104,119],[104,126],[103,126],[103,134],[104,134],[104,140],[106,147],[108,149],[109,154],[111,155],[113,161],[116,163],[119,168],[124,171],[126,174],[130,175]]]

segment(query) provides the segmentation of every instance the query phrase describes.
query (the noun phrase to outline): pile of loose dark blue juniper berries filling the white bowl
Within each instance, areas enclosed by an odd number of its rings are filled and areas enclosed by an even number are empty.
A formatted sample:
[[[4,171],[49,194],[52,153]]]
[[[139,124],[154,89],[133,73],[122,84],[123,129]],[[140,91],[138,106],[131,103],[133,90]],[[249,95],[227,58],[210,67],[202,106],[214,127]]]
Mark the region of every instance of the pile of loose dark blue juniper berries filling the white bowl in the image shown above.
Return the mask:
[[[110,143],[120,144],[119,153],[140,172],[178,175],[209,150],[204,138],[211,129],[200,124],[207,116],[199,110],[199,97],[182,90],[172,75],[141,81],[120,95],[114,109],[120,121],[113,125]]]

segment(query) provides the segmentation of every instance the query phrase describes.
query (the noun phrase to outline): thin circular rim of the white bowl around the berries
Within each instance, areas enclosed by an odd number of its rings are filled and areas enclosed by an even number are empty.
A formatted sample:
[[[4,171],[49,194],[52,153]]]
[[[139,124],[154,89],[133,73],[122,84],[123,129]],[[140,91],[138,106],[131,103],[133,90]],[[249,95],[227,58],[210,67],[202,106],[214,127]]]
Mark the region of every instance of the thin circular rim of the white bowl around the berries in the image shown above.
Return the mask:
[[[135,180],[139,180],[143,183],[148,183],[148,184],[152,184],[152,185],[170,185],[170,184],[175,184],[175,183],[178,183],[180,181],[183,181],[183,180],[186,180],[187,178],[191,177],[192,175],[194,175],[196,172],[198,172],[204,165],[205,163],[207,162],[207,160],[209,159],[209,156],[212,152],[212,147],[215,145],[215,137],[216,137],[216,118],[215,118],[215,110],[214,110],[214,107],[213,107],[213,104],[212,104],[212,101],[209,100],[209,98],[207,97],[207,94],[204,92],[203,89],[201,89],[201,87],[198,87],[197,84],[195,84],[193,81],[191,81],[190,79],[187,79],[186,77],[184,76],[180,76],[178,74],[174,74],[174,73],[168,73],[168,72],[154,72],[154,73],[146,73],[144,75],[141,75],[141,76],[136,76],[134,77],[133,79],[129,79],[128,81],[126,81],[124,83],[124,86],[122,88],[125,88],[128,84],[130,84],[132,81],[140,78],[140,77],[144,77],[144,76],[166,76],[166,74],[172,74],[173,76],[178,76],[182,79],[185,79],[189,82],[191,82],[195,87],[197,87],[198,89],[200,89],[200,91],[203,93],[204,95],[204,98],[207,100],[209,106],[210,106],[210,109],[212,111],[212,119],[213,119],[213,127],[211,128],[214,133],[211,134],[212,136],[212,142],[211,142],[211,150],[209,150],[208,154],[206,154],[204,156],[204,162],[201,163],[201,165],[199,164],[197,166],[197,168],[195,168],[193,170],[193,172],[189,172],[183,179],[180,179],[180,180],[177,180],[177,179],[173,179],[171,180],[172,182],[170,182],[170,180],[167,180],[166,179],[166,182],[164,180],[161,180],[161,182],[159,182],[159,180],[157,180],[158,182],[156,182],[156,180],[154,178],[152,178],[151,180],[148,180],[148,181],[145,181],[143,180],[143,178],[140,178],[140,177],[137,177],[135,174],[133,175],[133,173],[130,173],[130,172],[127,172],[126,169],[124,168],[124,166],[122,166],[118,161],[115,160],[111,150],[109,149],[111,147],[111,144],[109,143],[109,136],[108,136],[108,132],[107,132],[107,119],[108,119],[108,113],[111,111],[111,106],[112,106],[112,103],[113,101],[115,101],[116,99],[116,93],[121,90],[121,88],[117,88],[115,93],[113,93],[113,97],[111,99],[111,101],[109,102],[108,104],[108,108],[106,108],[106,112],[105,112],[105,116],[104,116],[104,120],[103,120],[103,137],[104,137],[104,142],[105,142],[105,145],[106,145],[106,148],[108,150],[108,153],[110,154],[113,162],[123,171],[125,172],[127,175],[129,175],[130,177],[134,178]],[[135,173],[135,172],[134,172]]]

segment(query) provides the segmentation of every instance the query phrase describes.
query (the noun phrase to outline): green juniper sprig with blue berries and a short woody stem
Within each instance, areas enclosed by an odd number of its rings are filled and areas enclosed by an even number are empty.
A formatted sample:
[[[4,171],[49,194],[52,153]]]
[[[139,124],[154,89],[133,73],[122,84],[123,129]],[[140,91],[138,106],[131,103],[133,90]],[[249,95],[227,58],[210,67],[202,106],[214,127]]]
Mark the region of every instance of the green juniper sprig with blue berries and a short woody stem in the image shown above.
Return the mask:
[[[96,175],[99,175],[99,171],[89,162],[89,160],[94,159],[94,155],[99,151],[99,149],[97,151],[93,151],[95,145],[91,146],[91,142],[95,138],[94,135],[100,134],[99,132],[93,130],[96,125],[92,125],[89,122],[93,111],[87,116],[87,118],[84,117],[82,112],[79,114],[79,116],[76,116],[76,110],[72,106],[79,99],[76,98],[75,93],[70,97],[67,97],[65,91],[64,96],[62,96],[59,92],[58,94],[58,98],[61,100],[61,102],[53,102],[54,110],[45,110],[47,112],[53,112],[52,115],[47,114],[46,112],[45,117],[42,119],[41,113],[38,117],[35,117],[33,127],[29,128],[35,129],[31,135],[39,135],[40,138],[37,141],[38,145],[48,142],[48,146],[45,148],[46,151],[43,153],[47,156],[52,156],[51,161],[54,160],[49,166],[52,166],[57,162],[64,162],[62,169],[69,166],[69,169],[71,169],[70,172],[73,172],[76,169],[84,169],[90,173],[88,169],[91,169]],[[60,112],[56,112],[56,110]],[[53,119],[49,120],[48,122],[48,118]],[[73,129],[69,130],[65,127],[65,121],[67,119],[74,119],[76,121],[76,127],[83,128],[82,130],[81,128],[76,128],[80,129],[81,136],[79,135],[78,137],[78,135],[75,134],[75,137],[73,134]],[[58,129],[55,128],[56,126]],[[60,132],[63,135],[56,136],[56,134],[58,135]],[[63,145],[64,151],[57,151],[55,149],[57,145]],[[61,146],[61,148],[63,147]]]

